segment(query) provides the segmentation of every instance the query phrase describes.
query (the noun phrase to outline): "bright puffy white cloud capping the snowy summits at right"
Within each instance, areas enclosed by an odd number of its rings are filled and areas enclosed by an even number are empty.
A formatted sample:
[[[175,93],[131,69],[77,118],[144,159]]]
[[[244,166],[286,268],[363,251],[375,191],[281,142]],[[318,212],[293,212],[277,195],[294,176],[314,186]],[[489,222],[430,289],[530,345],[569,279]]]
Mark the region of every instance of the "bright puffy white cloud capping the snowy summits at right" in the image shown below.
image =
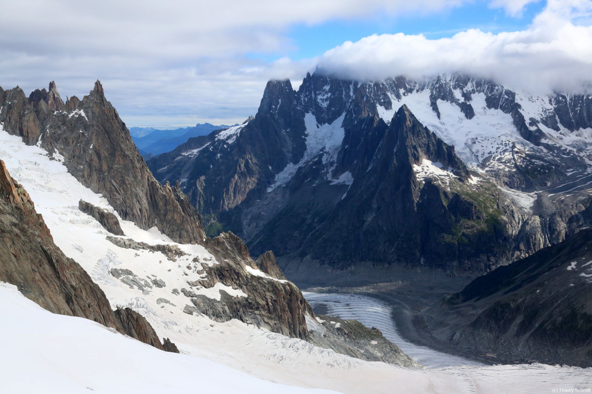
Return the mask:
[[[590,0],[549,0],[523,31],[468,30],[439,40],[372,35],[327,51],[319,68],[364,80],[461,71],[533,93],[581,89],[592,80],[592,27],[574,18],[585,21],[590,11]]]

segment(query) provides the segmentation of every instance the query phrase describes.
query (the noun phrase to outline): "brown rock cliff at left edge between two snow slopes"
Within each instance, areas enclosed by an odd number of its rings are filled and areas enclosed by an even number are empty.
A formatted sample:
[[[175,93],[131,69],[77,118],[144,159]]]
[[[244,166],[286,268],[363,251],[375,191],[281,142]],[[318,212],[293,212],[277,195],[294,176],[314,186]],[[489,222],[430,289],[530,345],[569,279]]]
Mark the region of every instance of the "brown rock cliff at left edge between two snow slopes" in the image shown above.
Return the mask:
[[[129,308],[112,311],[88,273],[53,243],[27,191],[1,160],[0,235],[0,281],[17,285],[50,312],[88,318],[165,350],[146,319]]]

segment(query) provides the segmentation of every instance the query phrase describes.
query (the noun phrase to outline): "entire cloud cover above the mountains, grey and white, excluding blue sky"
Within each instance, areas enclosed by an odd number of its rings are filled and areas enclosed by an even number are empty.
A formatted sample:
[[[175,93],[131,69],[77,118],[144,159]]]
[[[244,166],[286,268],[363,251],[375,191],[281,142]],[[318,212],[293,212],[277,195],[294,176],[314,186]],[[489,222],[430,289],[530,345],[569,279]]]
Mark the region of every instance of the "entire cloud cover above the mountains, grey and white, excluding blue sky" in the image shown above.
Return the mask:
[[[55,80],[62,96],[81,97],[100,79],[128,125],[194,125],[242,122],[256,111],[267,80],[298,85],[316,67],[353,79],[470,71],[544,92],[592,79],[592,0],[549,0],[525,31],[468,30],[440,40],[374,35],[318,58],[286,57],[294,25],[411,18],[474,1],[520,17],[534,0],[5,2],[0,86],[18,84],[28,94]]]

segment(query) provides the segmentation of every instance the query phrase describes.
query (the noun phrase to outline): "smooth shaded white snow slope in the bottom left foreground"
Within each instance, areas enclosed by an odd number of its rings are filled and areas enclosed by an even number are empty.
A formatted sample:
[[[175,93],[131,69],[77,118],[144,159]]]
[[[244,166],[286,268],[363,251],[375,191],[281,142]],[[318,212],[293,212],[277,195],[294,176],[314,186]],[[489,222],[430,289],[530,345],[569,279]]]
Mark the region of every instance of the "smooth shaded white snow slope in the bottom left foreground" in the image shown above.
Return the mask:
[[[329,393],[278,385],[201,357],[157,350],[79,317],[52,314],[0,282],[4,393]],[[34,376],[34,377],[33,377]]]

